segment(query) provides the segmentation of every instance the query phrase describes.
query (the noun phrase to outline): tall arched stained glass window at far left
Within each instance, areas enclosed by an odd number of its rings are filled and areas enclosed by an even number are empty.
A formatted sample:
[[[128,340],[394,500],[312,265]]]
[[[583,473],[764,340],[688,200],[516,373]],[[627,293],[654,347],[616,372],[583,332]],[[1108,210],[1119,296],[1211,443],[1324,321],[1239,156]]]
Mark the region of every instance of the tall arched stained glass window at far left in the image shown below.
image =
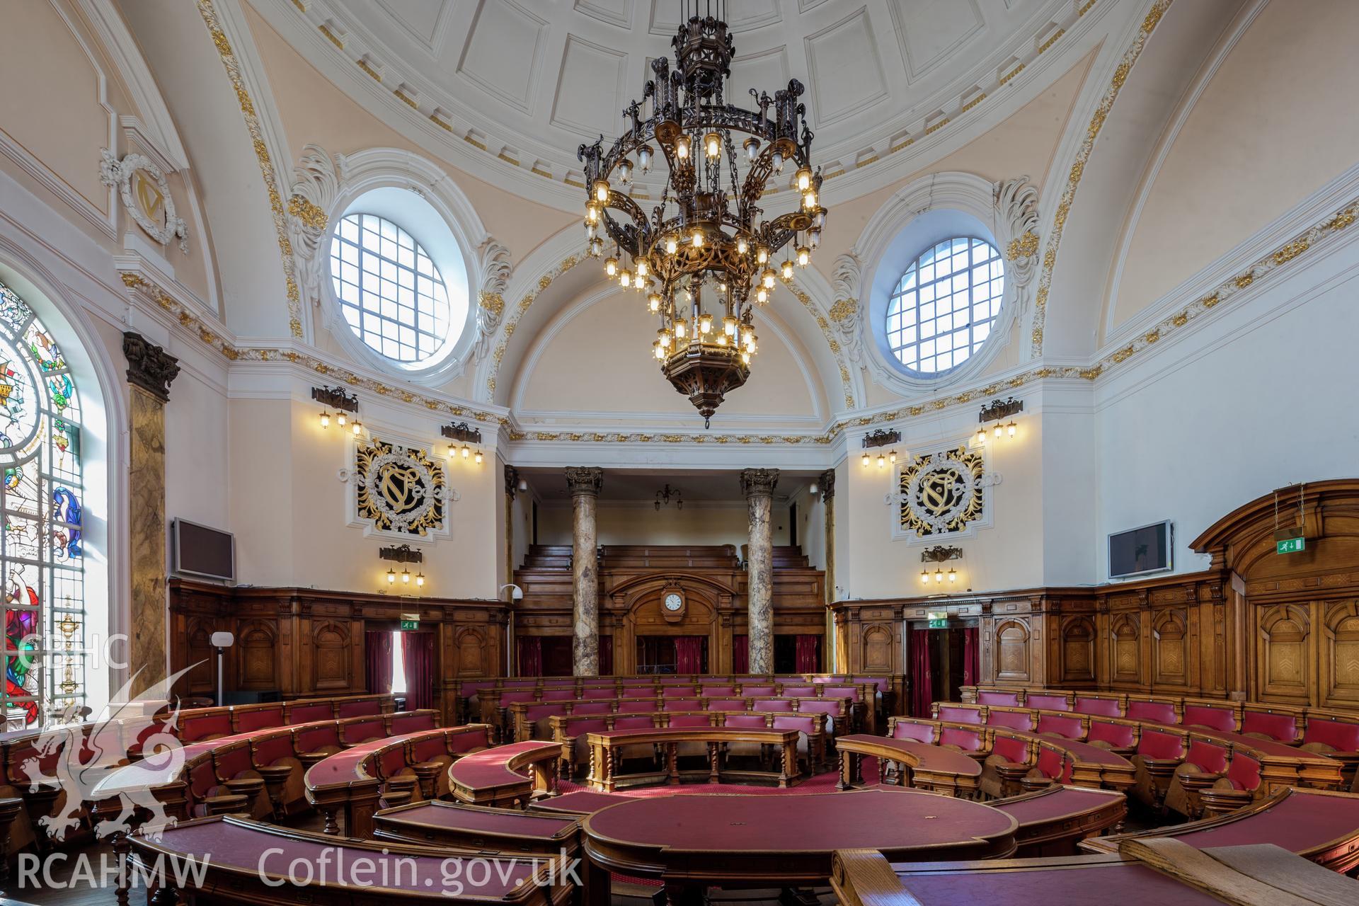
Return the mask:
[[[0,284],[0,570],[7,729],[84,704],[80,405],[52,334]]]

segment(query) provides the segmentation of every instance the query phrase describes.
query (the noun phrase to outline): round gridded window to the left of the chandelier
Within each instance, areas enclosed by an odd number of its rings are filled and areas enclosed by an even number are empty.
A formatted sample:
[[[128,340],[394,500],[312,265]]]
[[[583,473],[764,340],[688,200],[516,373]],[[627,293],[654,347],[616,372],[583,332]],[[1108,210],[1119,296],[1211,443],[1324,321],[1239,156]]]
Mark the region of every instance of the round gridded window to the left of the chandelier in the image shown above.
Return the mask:
[[[448,342],[443,274],[394,221],[375,213],[345,215],[330,243],[330,276],[345,322],[374,352],[420,364]]]

